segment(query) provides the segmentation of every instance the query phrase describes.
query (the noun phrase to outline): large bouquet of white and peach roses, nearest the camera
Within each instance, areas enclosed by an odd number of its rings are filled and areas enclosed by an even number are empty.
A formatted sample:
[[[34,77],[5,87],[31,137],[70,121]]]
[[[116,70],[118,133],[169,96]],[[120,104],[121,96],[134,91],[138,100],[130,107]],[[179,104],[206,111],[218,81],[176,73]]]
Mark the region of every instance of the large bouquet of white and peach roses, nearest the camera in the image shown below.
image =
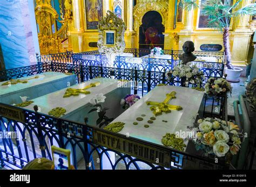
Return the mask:
[[[218,157],[223,157],[227,153],[232,155],[237,154],[240,149],[241,133],[239,128],[232,122],[218,119],[205,118],[197,121],[197,126],[194,128],[196,133],[197,150],[204,150],[205,153],[215,154]]]

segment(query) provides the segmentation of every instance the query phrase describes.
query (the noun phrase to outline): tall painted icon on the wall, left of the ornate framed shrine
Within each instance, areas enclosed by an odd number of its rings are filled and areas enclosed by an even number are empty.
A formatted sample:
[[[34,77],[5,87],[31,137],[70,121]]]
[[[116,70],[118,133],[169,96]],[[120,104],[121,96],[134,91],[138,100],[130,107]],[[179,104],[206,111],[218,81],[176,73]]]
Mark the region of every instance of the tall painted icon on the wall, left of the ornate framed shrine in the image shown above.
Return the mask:
[[[103,17],[102,0],[86,0],[87,29],[97,29],[100,17]]]

